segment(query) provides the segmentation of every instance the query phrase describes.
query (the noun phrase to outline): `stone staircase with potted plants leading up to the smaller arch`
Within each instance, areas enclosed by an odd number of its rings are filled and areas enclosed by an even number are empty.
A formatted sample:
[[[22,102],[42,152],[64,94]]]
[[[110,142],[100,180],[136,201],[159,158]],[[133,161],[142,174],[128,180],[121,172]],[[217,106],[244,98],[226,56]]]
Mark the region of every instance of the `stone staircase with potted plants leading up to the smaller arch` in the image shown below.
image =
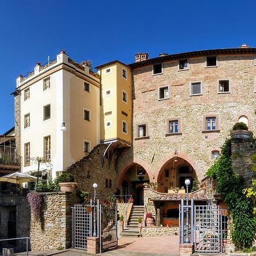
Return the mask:
[[[144,207],[143,205],[133,205],[131,210],[130,220],[126,226],[126,229],[123,229],[123,237],[140,237],[138,229],[138,218],[141,217],[143,220],[144,216]]]

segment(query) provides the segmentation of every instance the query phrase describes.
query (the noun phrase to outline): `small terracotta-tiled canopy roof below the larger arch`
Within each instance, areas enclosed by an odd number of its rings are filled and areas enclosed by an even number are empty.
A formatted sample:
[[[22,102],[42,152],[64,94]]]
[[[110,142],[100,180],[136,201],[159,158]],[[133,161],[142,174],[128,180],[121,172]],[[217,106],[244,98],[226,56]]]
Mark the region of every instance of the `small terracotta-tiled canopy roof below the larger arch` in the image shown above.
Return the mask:
[[[194,199],[194,200],[208,200],[207,196],[205,195],[205,190],[204,189],[199,189],[195,192],[189,193],[188,194],[189,199]],[[179,201],[181,199],[186,199],[187,195],[184,194],[179,194],[179,193],[161,193],[159,195],[152,196],[150,199],[152,201]]]

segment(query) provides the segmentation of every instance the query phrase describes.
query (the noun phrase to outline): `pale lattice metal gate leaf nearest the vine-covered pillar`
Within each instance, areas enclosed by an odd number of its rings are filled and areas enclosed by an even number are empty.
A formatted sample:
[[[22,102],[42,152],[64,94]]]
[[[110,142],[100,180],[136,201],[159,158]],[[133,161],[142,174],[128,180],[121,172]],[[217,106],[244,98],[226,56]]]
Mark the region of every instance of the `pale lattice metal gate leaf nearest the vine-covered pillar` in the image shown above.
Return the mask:
[[[195,205],[195,251],[221,251],[220,212],[217,205]]]

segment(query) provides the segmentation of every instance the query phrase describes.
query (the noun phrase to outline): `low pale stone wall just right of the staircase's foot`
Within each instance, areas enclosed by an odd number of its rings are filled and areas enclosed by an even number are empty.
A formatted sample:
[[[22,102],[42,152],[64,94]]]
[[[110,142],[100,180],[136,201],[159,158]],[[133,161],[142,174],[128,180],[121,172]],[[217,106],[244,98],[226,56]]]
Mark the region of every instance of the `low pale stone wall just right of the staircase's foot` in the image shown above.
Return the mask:
[[[163,237],[163,236],[177,236],[179,234],[179,227],[167,228],[164,226],[144,227],[141,229],[142,237]]]

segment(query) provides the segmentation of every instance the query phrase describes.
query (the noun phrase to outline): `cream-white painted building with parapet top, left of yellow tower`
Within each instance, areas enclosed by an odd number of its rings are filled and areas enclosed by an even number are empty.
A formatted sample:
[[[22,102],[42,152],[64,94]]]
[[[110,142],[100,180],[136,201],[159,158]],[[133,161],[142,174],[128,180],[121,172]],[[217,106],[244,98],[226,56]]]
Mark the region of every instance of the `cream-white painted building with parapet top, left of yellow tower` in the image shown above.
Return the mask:
[[[82,70],[84,69],[84,70]],[[49,77],[50,88],[43,90],[43,81]],[[84,90],[89,82],[90,92]],[[86,65],[68,59],[65,52],[57,55],[54,63],[36,65],[29,77],[19,76],[16,89],[20,90],[20,156],[22,172],[37,171],[30,160],[24,165],[24,144],[30,143],[30,158],[44,156],[44,137],[51,136],[51,164],[42,164],[40,171],[54,179],[57,171],[64,171],[85,156],[83,143],[90,142],[90,150],[100,143],[100,85],[99,79]],[[24,90],[30,88],[30,98],[24,100]],[[51,104],[51,118],[44,120],[43,107]],[[84,120],[84,109],[90,109],[91,120]],[[30,114],[30,126],[24,128],[24,115]],[[65,122],[67,131],[61,131]]]

